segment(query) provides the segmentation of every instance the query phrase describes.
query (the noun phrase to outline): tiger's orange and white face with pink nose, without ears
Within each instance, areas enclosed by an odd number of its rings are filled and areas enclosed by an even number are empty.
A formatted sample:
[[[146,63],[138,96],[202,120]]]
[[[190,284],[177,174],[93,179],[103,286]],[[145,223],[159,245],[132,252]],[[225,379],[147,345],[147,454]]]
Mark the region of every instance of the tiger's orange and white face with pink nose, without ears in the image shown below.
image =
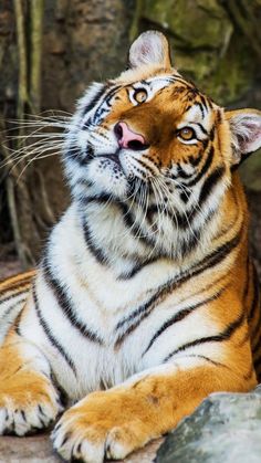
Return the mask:
[[[185,199],[206,164],[219,164],[222,112],[177,71],[147,67],[91,87],[73,123],[74,150],[98,191],[124,199],[135,183],[158,180],[171,192],[184,183]],[[229,178],[229,159],[220,167]]]

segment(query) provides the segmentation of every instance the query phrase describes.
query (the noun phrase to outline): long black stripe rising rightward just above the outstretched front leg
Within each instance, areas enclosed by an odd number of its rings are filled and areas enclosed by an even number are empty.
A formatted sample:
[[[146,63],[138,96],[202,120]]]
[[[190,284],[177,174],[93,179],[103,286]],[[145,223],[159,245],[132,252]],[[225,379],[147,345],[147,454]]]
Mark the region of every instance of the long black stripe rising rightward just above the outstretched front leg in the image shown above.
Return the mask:
[[[206,337],[198,338],[198,339],[184,344],[182,346],[173,350],[173,352],[168,354],[168,356],[165,357],[164,362],[168,361],[175,355],[182,352],[184,350],[190,347],[200,346],[201,344],[207,344],[207,343],[222,343],[223,340],[230,339],[231,336],[236,333],[236,330],[242,325],[244,319],[246,319],[244,312],[242,312],[240,316],[234,322],[231,322],[223,332],[219,333],[218,335],[206,336]]]

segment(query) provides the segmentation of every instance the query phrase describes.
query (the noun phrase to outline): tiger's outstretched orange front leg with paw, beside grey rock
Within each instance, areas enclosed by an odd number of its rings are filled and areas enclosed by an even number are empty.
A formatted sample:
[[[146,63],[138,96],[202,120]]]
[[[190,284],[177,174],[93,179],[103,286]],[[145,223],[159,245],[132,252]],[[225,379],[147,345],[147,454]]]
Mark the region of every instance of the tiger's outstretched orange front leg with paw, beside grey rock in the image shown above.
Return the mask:
[[[66,461],[102,463],[124,459],[173,429],[213,391],[247,391],[247,380],[223,366],[186,369],[186,359],[135,375],[107,391],[94,392],[67,410],[53,431],[53,444]],[[251,382],[252,381],[252,382]]]

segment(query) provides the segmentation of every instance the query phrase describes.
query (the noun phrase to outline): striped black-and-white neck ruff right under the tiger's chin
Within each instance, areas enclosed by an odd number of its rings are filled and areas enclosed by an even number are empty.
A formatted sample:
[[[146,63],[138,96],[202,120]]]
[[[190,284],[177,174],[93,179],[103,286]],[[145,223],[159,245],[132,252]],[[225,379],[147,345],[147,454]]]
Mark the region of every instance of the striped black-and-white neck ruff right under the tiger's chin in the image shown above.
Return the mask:
[[[222,214],[210,211],[198,228],[188,215],[147,211],[138,204],[106,196],[75,204],[85,244],[101,265],[127,280],[157,260],[169,260],[182,271],[203,259],[221,233]]]

